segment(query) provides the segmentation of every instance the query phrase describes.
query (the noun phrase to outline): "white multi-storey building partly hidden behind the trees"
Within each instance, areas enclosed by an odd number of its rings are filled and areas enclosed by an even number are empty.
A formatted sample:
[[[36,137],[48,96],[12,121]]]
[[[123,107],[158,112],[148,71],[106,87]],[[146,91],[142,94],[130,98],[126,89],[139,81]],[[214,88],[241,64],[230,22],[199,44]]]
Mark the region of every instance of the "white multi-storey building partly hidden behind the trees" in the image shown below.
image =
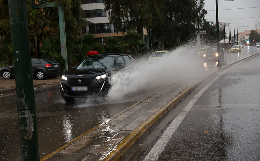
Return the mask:
[[[83,0],[81,8],[86,13],[87,26],[83,31],[83,34],[93,34],[98,42],[106,40],[107,37],[123,36],[123,26],[116,32],[114,24],[109,22],[108,12],[105,12],[105,6],[102,0]],[[144,42],[148,44],[148,35],[146,29],[144,29]]]

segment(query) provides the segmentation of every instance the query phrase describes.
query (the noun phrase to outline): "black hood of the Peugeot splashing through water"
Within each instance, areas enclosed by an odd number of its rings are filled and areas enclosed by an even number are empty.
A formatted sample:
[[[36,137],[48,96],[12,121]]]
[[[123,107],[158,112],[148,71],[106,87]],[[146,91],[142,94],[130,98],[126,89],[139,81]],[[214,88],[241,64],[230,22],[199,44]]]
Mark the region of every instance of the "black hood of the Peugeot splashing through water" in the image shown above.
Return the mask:
[[[72,69],[64,73],[67,78],[92,78],[106,74],[115,69]]]

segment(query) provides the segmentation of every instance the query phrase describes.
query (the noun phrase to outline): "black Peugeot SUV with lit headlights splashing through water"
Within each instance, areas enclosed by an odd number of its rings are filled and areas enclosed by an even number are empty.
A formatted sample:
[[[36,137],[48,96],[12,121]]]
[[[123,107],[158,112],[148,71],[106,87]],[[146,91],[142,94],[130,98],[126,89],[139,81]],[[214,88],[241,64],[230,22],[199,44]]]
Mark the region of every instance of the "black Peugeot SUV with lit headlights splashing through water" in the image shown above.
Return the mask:
[[[127,54],[88,56],[61,77],[61,95],[66,102],[88,95],[106,95],[111,87],[109,78],[133,61]]]

